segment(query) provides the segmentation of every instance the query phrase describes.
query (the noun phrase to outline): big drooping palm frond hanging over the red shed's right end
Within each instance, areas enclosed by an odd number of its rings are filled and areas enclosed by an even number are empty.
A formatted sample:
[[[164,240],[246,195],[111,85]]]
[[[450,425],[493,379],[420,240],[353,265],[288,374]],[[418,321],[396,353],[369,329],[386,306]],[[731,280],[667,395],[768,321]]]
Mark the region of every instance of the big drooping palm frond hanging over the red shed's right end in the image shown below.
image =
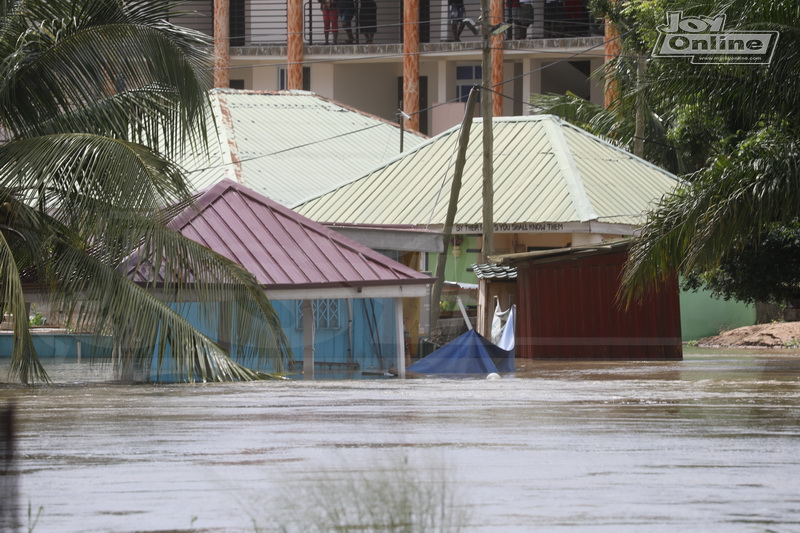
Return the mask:
[[[777,128],[754,132],[696,181],[664,200],[630,251],[623,285],[641,295],[670,273],[715,268],[725,253],[770,224],[800,215],[800,140]]]

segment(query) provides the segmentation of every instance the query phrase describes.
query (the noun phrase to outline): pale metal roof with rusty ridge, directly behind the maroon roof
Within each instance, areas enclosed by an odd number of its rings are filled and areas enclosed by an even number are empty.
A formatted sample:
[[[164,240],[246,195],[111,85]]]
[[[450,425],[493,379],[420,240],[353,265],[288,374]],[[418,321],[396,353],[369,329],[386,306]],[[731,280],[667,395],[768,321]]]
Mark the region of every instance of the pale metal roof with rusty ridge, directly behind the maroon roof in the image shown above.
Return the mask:
[[[224,178],[292,207],[400,153],[400,127],[305,91],[209,93],[208,155],[182,161],[195,190]],[[406,149],[426,138],[403,134]],[[238,163],[238,165],[237,165]]]

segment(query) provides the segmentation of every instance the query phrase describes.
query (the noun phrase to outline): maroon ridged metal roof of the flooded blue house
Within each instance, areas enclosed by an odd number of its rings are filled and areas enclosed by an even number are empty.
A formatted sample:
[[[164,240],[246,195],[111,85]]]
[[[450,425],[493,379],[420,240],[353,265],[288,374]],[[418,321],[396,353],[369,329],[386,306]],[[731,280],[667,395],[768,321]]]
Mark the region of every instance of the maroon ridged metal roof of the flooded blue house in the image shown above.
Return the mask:
[[[207,189],[171,227],[239,263],[267,289],[433,281],[230,180]]]

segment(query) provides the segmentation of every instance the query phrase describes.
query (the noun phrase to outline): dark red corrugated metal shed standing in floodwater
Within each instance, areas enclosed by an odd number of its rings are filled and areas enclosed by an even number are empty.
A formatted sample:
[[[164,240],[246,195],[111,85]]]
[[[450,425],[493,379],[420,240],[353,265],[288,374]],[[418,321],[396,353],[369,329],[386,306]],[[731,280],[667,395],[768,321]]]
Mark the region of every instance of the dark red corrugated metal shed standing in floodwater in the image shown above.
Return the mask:
[[[588,248],[588,247],[587,247]],[[517,275],[518,357],[569,360],[682,358],[678,282],[673,277],[631,307],[616,301],[626,249],[528,254]],[[513,256],[507,256],[511,258]]]

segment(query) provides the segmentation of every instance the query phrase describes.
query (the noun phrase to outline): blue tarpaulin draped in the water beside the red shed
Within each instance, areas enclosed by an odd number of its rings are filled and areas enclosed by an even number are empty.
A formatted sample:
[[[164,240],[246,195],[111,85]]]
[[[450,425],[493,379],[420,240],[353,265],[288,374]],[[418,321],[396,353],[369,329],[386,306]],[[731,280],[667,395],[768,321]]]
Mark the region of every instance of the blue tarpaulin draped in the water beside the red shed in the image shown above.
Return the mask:
[[[406,370],[417,374],[513,372],[514,350],[503,350],[471,329]]]

